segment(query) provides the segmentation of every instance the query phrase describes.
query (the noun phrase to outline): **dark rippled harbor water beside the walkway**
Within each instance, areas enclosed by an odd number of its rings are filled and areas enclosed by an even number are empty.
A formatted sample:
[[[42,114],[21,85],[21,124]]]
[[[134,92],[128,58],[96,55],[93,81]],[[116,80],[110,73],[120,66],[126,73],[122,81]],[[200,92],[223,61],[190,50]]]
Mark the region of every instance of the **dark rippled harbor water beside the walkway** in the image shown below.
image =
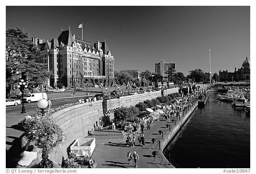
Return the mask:
[[[164,150],[181,168],[250,168],[250,115],[210,92]]]

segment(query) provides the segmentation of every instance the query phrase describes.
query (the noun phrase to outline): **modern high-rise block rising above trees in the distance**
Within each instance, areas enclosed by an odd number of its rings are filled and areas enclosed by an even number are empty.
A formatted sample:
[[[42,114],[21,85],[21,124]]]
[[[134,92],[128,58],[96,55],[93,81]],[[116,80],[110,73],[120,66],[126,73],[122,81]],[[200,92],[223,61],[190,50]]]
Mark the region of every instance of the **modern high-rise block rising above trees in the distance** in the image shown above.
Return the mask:
[[[164,77],[164,79],[168,78],[167,72],[171,68],[176,68],[175,62],[166,63],[164,60],[160,60],[159,63],[155,63],[155,73],[161,74]]]

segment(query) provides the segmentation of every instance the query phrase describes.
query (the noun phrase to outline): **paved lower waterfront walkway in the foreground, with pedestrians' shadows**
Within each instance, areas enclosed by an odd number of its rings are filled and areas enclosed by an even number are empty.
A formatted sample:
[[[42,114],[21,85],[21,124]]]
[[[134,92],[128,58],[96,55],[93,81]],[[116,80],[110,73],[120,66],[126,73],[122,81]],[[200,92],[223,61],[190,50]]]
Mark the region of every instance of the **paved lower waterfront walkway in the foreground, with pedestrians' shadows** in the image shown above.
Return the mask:
[[[138,168],[175,168],[172,165],[168,165],[168,160],[164,157],[164,154],[159,150],[159,142],[162,141],[162,135],[158,133],[162,130],[165,134],[169,129],[166,124],[170,124],[168,121],[160,120],[156,123],[152,123],[150,130],[147,131],[147,127],[144,128],[145,146],[138,146],[138,135],[136,134],[136,146],[127,147],[125,140],[116,143],[107,143],[96,145],[92,158],[97,162],[96,168],[134,168],[134,161],[132,165],[128,165],[127,153],[134,151],[139,155],[140,161],[138,162]],[[172,123],[171,123],[172,124]],[[156,142],[152,143],[151,139],[155,138]],[[156,158],[153,157],[152,152],[156,151]]]

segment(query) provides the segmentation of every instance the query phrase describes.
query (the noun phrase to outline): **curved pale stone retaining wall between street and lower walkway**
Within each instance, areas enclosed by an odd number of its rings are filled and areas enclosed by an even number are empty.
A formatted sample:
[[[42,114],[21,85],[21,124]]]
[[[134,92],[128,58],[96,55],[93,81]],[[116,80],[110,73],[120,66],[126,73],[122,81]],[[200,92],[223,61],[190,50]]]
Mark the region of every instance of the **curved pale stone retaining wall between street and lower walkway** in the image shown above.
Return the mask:
[[[164,95],[178,92],[178,88],[172,88],[164,90]],[[150,93],[144,93],[139,95],[129,95],[120,97],[118,99],[98,100],[92,102],[92,106],[89,107],[86,103],[78,104],[72,107],[64,108],[52,114],[56,124],[64,131],[66,135],[65,142],[62,143],[61,148],[57,148],[51,154],[49,159],[53,162],[61,164],[62,156],[68,157],[68,152],[71,144],[77,138],[84,138],[87,136],[88,130],[93,128],[93,123],[99,121],[101,117],[107,112],[110,112],[111,119],[114,117],[113,110],[117,107],[129,107],[135,106],[137,103],[147,99],[155,99],[161,96],[161,91],[154,91]],[[41,154],[36,159],[35,163],[39,163],[41,160]]]

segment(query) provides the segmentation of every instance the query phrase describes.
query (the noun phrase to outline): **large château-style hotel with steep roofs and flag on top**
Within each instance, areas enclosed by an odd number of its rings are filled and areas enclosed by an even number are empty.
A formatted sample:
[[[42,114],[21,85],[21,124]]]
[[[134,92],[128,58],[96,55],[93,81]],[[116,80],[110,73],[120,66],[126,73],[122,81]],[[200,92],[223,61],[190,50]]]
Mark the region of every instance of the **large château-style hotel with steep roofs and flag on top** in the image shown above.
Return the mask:
[[[86,83],[114,83],[115,59],[106,41],[92,44],[77,40],[70,29],[62,31],[58,39],[42,42],[35,37],[32,42],[37,48],[32,58],[43,63],[45,71],[52,71],[48,86],[62,83],[65,87],[84,87]]]

